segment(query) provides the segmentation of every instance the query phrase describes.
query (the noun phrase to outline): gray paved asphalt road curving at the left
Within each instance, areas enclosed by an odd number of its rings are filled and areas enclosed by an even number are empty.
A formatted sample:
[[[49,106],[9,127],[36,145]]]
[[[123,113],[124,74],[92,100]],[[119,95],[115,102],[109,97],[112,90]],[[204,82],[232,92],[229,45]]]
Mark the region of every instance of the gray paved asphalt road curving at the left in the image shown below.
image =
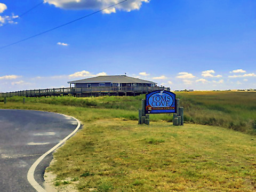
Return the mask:
[[[59,114],[0,109],[0,191],[36,191],[27,180],[30,166],[76,127],[75,119]],[[52,154],[35,170],[41,186],[51,160]]]

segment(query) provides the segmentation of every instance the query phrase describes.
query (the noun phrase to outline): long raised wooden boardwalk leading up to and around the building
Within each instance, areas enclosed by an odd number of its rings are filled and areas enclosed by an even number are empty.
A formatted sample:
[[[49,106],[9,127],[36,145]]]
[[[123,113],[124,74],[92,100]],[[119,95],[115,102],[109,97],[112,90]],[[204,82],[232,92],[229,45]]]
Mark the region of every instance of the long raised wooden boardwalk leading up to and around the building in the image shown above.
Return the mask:
[[[58,97],[72,95],[74,97],[98,97],[100,95],[135,96],[157,90],[170,91],[168,87],[90,87],[90,88],[58,88],[41,90],[23,90],[15,92],[0,93],[0,97]]]

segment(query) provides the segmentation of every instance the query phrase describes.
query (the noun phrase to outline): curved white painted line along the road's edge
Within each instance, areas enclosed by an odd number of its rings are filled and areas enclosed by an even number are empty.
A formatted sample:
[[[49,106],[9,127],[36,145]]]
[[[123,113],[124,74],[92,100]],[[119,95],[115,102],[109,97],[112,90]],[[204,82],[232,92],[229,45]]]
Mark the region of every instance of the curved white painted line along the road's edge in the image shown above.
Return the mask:
[[[63,114],[61,114],[63,115]],[[68,116],[68,115],[64,115],[64,116]],[[71,116],[68,116],[71,117]],[[76,119],[75,117],[71,117]],[[36,182],[35,178],[34,178],[34,172],[35,169],[37,167],[37,165],[44,159],[44,157],[46,157],[47,155],[49,155],[50,153],[52,153],[52,151],[54,151],[55,149],[57,149],[63,142],[65,142],[67,139],[69,139],[73,134],[75,134],[77,132],[77,130],[79,129],[79,127],[81,126],[81,122],[79,122],[78,119],[76,119],[78,125],[76,127],[76,129],[70,133],[65,139],[63,139],[62,141],[60,141],[57,145],[55,145],[53,148],[51,148],[49,151],[47,151],[45,154],[43,154],[41,157],[39,157],[36,162],[30,167],[30,169],[28,170],[28,175],[27,175],[27,179],[28,182],[30,183],[31,186],[33,186],[38,192],[46,192],[46,190],[44,190],[44,188],[39,185],[38,182]]]

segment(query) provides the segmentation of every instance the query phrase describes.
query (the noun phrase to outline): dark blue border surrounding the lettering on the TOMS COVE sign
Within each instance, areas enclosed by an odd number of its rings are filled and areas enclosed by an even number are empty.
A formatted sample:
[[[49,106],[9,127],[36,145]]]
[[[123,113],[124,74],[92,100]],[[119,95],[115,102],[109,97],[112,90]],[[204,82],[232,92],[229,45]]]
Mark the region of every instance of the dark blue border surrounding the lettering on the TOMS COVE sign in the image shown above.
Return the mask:
[[[148,110],[147,110],[147,106],[149,105],[149,98],[154,95],[154,94],[157,94],[157,93],[164,93],[164,94],[167,94],[167,95],[170,95],[173,102],[171,104],[170,107],[174,107],[174,111],[172,112],[167,112],[167,111],[164,111],[163,109],[163,112],[159,112],[159,113],[150,113]],[[150,96],[148,96],[150,95]],[[160,110],[160,109],[159,109]],[[167,110],[167,109],[166,109]],[[166,90],[157,90],[157,91],[153,91],[153,92],[149,92],[146,94],[146,100],[145,100],[145,114],[170,114],[170,113],[177,113],[177,103],[176,103],[176,94],[171,92],[171,91],[166,91]]]

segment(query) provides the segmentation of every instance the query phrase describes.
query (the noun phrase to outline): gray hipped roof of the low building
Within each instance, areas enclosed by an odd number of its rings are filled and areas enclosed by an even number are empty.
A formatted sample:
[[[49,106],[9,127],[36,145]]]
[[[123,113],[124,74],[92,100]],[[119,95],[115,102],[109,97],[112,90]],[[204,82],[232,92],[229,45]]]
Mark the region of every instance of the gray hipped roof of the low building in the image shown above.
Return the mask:
[[[150,83],[150,84],[154,84],[155,82],[134,78],[134,77],[127,77],[126,75],[108,75],[108,76],[91,77],[91,78],[81,79],[77,81],[70,81],[68,83],[71,83],[71,84],[75,84],[75,83]]]

